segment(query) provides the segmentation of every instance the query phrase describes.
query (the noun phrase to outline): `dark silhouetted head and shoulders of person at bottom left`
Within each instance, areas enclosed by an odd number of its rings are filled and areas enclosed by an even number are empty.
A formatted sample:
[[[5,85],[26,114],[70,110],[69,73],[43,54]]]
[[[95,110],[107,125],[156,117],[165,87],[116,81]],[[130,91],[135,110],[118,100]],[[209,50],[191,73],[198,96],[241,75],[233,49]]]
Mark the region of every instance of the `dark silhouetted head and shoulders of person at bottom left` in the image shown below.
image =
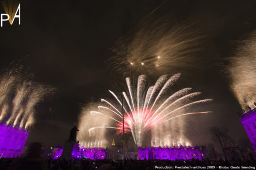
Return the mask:
[[[47,161],[43,159],[42,150],[43,146],[41,143],[34,142],[29,145],[27,155],[23,158],[19,158],[17,163],[14,165],[15,170],[46,170]],[[12,168],[11,168],[12,169]]]

